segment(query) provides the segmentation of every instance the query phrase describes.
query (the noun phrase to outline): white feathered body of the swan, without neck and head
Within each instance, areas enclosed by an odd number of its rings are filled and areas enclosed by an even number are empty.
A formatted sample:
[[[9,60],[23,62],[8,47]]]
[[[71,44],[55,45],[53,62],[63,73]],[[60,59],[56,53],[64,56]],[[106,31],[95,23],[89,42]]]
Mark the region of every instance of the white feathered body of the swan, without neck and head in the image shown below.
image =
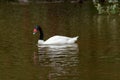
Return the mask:
[[[53,36],[46,41],[38,40],[38,44],[72,44],[75,43],[77,37]]]

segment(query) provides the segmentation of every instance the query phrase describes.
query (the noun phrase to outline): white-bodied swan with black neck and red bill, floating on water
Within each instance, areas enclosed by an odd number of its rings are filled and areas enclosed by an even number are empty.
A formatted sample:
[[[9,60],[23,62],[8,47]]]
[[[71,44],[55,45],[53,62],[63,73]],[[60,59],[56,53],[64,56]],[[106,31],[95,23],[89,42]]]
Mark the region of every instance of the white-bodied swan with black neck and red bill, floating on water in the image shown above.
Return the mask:
[[[50,37],[48,40],[44,41],[43,30],[39,25],[36,25],[34,27],[33,35],[36,34],[37,32],[40,32],[38,44],[72,44],[75,43],[78,39],[78,36],[71,38],[66,36],[55,35],[53,37]]]

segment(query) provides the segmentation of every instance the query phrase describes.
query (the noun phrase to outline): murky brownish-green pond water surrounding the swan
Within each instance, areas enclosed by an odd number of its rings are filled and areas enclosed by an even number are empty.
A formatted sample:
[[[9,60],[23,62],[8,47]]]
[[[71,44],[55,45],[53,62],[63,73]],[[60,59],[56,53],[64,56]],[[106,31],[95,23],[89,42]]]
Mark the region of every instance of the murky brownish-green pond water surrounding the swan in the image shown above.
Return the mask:
[[[87,4],[0,5],[0,80],[119,80],[120,16]],[[45,39],[79,36],[70,48],[38,48]]]

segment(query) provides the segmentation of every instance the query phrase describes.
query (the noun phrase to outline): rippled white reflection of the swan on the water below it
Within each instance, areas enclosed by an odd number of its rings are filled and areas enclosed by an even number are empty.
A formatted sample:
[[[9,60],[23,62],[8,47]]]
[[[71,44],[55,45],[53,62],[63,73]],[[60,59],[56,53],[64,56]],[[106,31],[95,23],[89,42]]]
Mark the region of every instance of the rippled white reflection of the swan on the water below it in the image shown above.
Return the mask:
[[[79,79],[78,45],[39,45],[38,61],[40,66],[51,67],[50,80]]]

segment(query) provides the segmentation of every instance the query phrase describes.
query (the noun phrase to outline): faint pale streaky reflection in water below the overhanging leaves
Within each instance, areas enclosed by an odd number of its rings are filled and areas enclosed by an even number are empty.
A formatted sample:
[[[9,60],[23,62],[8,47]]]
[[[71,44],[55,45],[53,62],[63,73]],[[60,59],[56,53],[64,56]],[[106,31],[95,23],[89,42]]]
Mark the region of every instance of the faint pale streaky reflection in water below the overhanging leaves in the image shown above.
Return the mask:
[[[103,33],[103,30],[106,32],[108,31],[108,34],[111,35],[111,39],[113,40],[116,40],[118,37],[118,26],[119,25],[118,23],[118,20],[116,19],[116,17],[112,17],[112,16],[97,16],[97,28],[98,28],[98,34],[99,35],[102,35]],[[95,18],[94,18],[95,19]],[[96,19],[95,19],[96,20]],[[103,26],[104,24],[104,26]]]

